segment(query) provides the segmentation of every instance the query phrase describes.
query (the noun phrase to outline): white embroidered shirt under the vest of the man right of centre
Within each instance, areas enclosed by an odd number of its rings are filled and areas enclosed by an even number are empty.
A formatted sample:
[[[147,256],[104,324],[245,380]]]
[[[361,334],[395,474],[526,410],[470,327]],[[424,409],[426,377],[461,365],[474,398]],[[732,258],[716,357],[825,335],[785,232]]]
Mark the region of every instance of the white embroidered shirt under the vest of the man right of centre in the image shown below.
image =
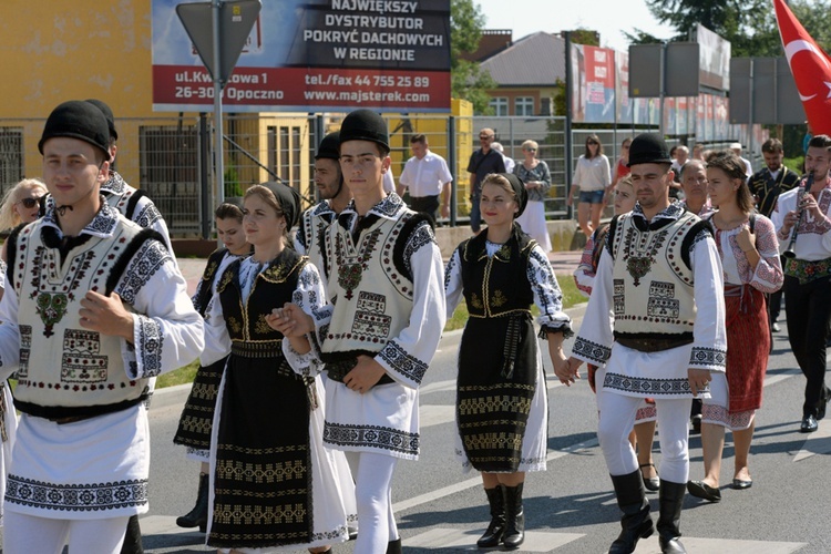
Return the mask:
[[[642,213],[643,214],[643,213]],[[673,206],[655,218],[678,217]],[[643,217],[643,215],[642,215]],[[606,368],[603,387],[638,398],[691,398],[687,370],[725,371],[727,331],[721,260],[711,236],[696,240],[689,252],[695,279],[696,320],[693,343],[657,352],[642,352],[615,342],[613,268],[607,248],[597,266],[592,296],[572,356]],[[656,256],[656,263],[665,263]],[[708,396],[709,393],[704,393]],[[701,394],[699,394],[700,397]]]

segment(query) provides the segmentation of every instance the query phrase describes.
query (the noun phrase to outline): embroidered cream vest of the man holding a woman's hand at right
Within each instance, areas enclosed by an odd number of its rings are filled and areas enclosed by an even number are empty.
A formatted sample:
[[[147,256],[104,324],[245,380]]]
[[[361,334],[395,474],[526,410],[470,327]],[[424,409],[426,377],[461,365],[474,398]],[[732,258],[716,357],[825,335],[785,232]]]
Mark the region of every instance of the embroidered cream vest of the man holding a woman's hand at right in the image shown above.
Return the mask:
[[[639,232],[632,214],[619,217],[612,244],[615,332],[693,332],[694,279],[683,247],[698,222],[686,212],[666,227]]]

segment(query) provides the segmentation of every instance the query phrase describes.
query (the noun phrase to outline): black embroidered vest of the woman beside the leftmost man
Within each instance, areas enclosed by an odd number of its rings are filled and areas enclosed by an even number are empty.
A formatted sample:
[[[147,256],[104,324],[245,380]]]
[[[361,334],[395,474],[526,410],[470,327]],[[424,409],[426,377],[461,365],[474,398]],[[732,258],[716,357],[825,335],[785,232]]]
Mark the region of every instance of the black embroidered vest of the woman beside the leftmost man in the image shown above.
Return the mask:
[[[257,275],[245,300],[239,285],[242,260],[228,266],[216,291],[222,301],[232,353],[244,358],[283,358],[283,334],[268,326],[266,316],[274,308],[291,301],[300,270],[308,263],[308,257],[291,248],[284,249],[268,269]]]

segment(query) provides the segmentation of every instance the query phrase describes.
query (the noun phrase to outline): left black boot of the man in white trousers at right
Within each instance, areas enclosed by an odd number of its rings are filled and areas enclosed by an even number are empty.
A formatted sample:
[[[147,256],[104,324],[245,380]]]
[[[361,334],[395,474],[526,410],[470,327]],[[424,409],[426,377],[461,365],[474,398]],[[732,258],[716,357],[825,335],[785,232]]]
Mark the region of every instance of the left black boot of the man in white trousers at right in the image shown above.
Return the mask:
[[[653,519],[649,517],[649,501],[646,500],[640,470],[626,475],[612,475],[612,484],[615,486],[617,505],[624,515],[620,517],[620,534],[608,552],[629,554],[635,552],[638,540],[646,538],[655,531]]]

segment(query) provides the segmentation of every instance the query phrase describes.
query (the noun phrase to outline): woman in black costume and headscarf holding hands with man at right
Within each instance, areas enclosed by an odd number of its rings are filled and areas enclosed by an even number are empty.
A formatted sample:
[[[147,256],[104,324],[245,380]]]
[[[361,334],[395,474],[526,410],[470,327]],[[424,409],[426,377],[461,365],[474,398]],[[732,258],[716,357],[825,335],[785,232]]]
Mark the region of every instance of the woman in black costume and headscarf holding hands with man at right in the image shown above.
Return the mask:
[[[525,472],[545,470],[547,390],[531,305],[555,367],[566,362],[562,345],[572,332],[547,256],[514,222],[526,203],[519,177],[488,175],[480,203],[488,229],[459,245],[444,276],[448,315],[462,296],[470,311],[459,349],[456,453],[465,470],[482,473],[491,507],[480,547],[522,544]],[[499,397],[510,402],[478,408]]]

